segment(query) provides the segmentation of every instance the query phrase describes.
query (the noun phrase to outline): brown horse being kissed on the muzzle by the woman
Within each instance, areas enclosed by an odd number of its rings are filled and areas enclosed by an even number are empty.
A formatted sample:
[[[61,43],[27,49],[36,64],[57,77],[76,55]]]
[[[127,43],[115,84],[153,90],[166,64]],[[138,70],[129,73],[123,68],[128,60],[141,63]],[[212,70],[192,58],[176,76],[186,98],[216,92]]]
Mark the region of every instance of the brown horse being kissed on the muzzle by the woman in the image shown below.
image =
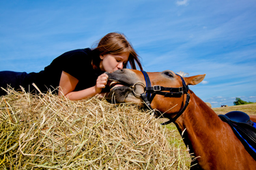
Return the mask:
[[[145,93],[146,82],[141,71],[121,69],[108,75],[109,86],[112,87],[109,94],[111,99],[118,103],[135,102],[143,105],[140,94]],[[156,90],[159,90],[160,86],[184,88],[184,83],[196,85],[205,78],[205,75],[195,75],[183,78],[182,83],[180,75],[169,70],[148,73],[148,76]],[[189,104],[174,123],[180,134],[183,132],[182,137],[190,153],[197,157],[197,165],[191,169],[256,169],[256,161],[245,150],[229,124],[218,118],[192,90],[188,90],[187,94],[180,97],[169,97],[171,92],[167,93],[168,97],[156,95],[151,101],[151,107],[164,113],[169,119],[175,117],[186,106],[187,96],[190,96]],[[256,116],[251,116],[251,120],[256,122]],[[195,163],[191,165],[193,164]]]

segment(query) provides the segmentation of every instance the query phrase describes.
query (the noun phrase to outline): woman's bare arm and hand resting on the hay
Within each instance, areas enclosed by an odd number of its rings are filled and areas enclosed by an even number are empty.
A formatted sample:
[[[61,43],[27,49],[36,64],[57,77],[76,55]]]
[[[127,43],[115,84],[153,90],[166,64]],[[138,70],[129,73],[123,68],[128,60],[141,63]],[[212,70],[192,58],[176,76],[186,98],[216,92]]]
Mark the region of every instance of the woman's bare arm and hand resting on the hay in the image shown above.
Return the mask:
[[[88,97],[93,97],[94,95],[100,93],[102,88],[105,88],[106,82],[108,80],[108,75],[103,73],[97,79],[96,85],[84,90],[74,92],[76,85],[79,83],[79,80],[74,78],[69,73],[62,71],[61,79],[59,81],[59,93],[58,95],[64,95],[70,100],[80,100],[87,99]]]

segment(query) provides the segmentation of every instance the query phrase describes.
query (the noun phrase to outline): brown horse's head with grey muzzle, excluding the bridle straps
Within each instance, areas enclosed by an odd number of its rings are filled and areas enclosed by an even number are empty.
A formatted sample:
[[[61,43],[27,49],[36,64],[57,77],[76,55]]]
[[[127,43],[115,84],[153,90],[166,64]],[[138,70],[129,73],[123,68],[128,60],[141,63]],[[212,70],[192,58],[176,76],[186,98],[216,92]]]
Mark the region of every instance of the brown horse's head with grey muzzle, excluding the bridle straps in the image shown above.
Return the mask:
[[[132,69],[120,69],[109,75],[109,86],[111,91],[109,93],[109,99],[114,99],[117,103],[138,103],[143,105],[143,99],[141,94],[147,93],[147,83],[144,78],[143,72]],[[180,111],[186,101],[186,95],[180,92],[177,95],[179,88],[188,85],[196,85],[203,81],[204,75],[195,75],[187,78],[182,78],[180,75],[175,74],[173,71],[165,70],[162,72],[148,72],[149,80],[151,82],[152,90],[159,91],[161,87],[168,87],[161,90],[161,94],[156,92],[154,99],[150,101],[152,109],[158,109],[158,111],[165,114],[173,114]],[[184,82],[182,82],[182,79]],[[154,89],[154,88],[157,89]],[[177,92],[171,92],[171,90],[177,89]],[[171,93],[173,93],[172,97]],[[170,109],[171,105],[175,105],[173,109]]]

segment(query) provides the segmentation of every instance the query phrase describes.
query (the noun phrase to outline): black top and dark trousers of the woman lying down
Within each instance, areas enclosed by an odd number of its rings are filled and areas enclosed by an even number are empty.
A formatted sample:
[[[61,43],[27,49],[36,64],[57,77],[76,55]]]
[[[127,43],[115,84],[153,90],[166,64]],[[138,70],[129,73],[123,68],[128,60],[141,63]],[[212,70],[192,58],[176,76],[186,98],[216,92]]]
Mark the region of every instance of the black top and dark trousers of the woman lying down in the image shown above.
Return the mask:
[[[104,73],[92,67],[93,56],[90,48],[72,50],[55,58],[39,73],[0,71],[0,86],[7,88],[7,84],[10,84],[15,90],[23,86],[27,92],[34,92],[35,88],[31,84],[35,83],[42,92],[47,92],[48,89],[53,91],[59,86],[61,73],[65,71],[79,80],[75,91],[83,90],[95,86],[98,76]],[[5,95],[5,92],[0,90],[0,95]]]

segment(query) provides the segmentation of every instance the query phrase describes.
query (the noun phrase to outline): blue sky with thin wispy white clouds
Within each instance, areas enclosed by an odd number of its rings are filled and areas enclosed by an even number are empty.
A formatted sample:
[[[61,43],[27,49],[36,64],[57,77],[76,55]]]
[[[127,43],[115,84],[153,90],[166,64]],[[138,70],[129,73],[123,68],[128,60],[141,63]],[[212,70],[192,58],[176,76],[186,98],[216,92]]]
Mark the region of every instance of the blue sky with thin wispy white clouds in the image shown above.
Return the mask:
[[[212,107],[256,102],[255,0],[0,1],[0,71],[38,72],[107,33],[128,37],[149,72],[206,74]]]

